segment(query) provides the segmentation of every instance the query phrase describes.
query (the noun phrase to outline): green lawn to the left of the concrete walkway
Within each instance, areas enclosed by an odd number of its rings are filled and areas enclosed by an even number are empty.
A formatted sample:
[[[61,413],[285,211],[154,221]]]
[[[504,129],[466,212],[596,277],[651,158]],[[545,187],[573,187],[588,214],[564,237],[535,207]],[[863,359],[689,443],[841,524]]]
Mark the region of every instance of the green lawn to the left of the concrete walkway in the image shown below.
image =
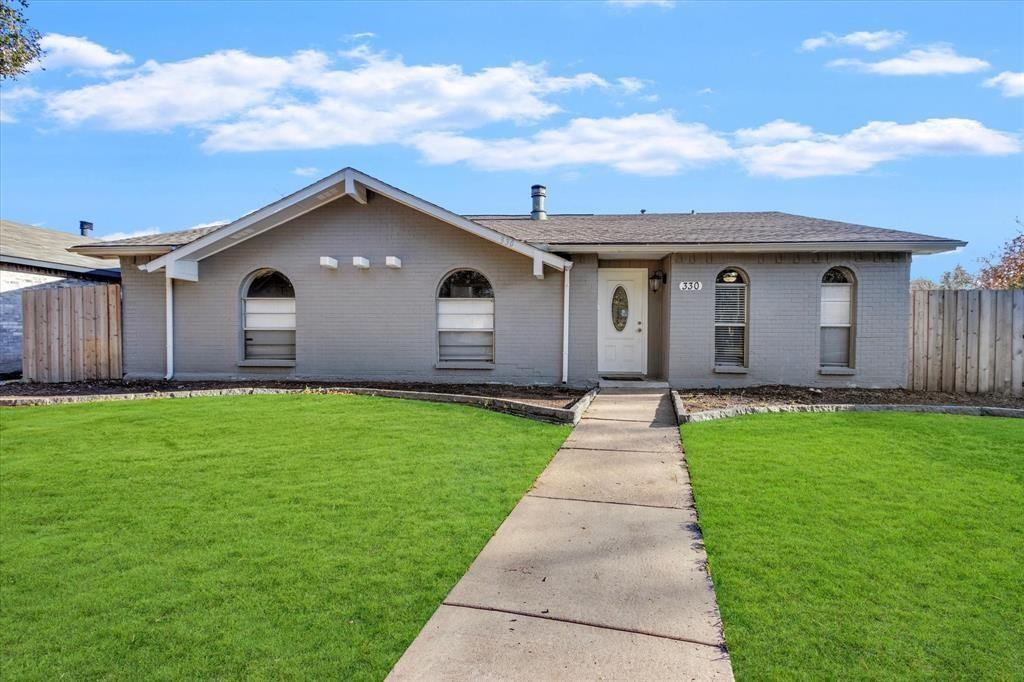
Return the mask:
[[[0,678],[380,679],[568,431],[346,395],[0,411]]]

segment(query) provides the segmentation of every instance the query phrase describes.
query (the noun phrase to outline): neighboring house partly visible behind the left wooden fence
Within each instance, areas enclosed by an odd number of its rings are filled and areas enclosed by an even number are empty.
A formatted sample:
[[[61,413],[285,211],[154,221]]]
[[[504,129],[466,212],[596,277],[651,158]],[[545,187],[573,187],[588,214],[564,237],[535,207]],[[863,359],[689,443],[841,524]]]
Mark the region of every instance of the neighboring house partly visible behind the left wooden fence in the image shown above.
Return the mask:
[[[82,231],[91,228],[91,224],[83,223]],[[86,236],[0,220],[0,374],[22,371],[23,291],[121,279],[116,260],[68,251],[79,244],[98,243]]]

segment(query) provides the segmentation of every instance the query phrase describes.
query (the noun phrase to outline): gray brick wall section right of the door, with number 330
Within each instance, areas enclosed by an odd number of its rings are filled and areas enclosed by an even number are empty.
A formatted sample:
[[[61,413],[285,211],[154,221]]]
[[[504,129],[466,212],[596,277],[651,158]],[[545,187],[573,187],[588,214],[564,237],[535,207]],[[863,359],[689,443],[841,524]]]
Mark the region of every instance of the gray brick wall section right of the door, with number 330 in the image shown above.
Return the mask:
[[[728,266],[750,276],[749,369],[714,372],[715,278]],[[820,282],[843,265],[857,276],[856,374],[818,373]],[[675,387],[797,384],[902,386],[906,378],[907,254],[677,254],[673,257],[669,381]],[[681,292],[679,282],[703,283]]]

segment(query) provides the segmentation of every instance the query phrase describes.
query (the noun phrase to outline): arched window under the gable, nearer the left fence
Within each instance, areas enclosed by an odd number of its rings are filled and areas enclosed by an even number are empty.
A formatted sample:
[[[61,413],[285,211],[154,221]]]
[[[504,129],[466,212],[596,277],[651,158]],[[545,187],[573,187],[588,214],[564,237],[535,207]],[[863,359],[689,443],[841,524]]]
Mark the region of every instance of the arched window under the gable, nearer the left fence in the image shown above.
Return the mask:
[[[245,358],[295,359],[295,289],[276,270],[249,275],[242,290]]]

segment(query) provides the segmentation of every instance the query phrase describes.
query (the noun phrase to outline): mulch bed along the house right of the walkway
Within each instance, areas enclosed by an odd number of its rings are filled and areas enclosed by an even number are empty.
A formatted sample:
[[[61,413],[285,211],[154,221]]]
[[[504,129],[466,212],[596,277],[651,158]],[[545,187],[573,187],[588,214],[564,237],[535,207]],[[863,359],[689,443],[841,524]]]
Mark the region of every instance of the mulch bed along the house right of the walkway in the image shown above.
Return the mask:
[[[901,388],[802,388],[799,386],[756,386],[719,390],[698,388],[679,391],[688,412],[740,406],[773,404],[957,404],[1024,409],[1024,398],[986,393],[967,395],[908,391]]]

